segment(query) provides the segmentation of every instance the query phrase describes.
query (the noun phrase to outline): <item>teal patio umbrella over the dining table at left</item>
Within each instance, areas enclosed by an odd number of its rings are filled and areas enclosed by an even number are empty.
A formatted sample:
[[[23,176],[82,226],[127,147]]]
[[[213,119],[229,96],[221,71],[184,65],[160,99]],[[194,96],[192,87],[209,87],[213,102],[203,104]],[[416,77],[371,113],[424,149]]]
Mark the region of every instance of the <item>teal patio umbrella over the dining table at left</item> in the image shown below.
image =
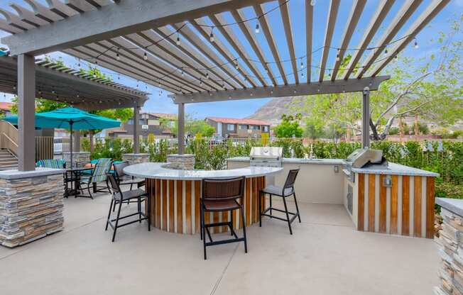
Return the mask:
[[[13,125],[18,125],[18,116],[3,118]],[[36,127],[38,128],[64,128],[70,130],[70,152],[72,167],[72,130],[106,129],[121,126],[121,122],[97,116],[79,108],[58,108],[54,111],[36,113]]]

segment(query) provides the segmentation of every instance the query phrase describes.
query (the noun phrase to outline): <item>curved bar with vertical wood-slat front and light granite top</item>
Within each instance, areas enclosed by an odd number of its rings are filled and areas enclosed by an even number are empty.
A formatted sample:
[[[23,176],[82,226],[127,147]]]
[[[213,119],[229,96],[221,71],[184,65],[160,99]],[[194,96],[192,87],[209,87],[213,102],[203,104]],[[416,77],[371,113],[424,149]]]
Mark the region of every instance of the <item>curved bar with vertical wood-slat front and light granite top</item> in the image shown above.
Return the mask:
[[[266,176],[278,174],[283,168],[244,167],[228,170],[178,170],[169,169],[167,163],[146,162],[128,166],[126,174],[146,179],[150,194],[151,223],[170,233],[195,234],[200,231],[200,196],[202,179],[246,177],[244,216],[246,226],[258,222],[258,191],[266,185]],[[262,199],[261,206],[265,206]],[[233,211],[234,228],[241,228],[239,212]],[[229,221],[228,212],[206,213],[210,223]],[[213,229],[213,233],[227,231],[227,226]]]

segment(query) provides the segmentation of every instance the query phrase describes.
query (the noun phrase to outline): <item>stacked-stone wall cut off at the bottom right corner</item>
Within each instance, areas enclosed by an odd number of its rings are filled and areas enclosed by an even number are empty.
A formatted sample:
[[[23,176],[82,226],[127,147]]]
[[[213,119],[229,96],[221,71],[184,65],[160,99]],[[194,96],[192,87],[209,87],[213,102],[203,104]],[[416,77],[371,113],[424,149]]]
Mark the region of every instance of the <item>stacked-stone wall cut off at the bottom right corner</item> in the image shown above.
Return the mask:
[[[463,217],[443,207],[440,215],[442,229],[436,241],[442,261],[438,273],[440,286],[435,287],[434,294],[463,294]]]

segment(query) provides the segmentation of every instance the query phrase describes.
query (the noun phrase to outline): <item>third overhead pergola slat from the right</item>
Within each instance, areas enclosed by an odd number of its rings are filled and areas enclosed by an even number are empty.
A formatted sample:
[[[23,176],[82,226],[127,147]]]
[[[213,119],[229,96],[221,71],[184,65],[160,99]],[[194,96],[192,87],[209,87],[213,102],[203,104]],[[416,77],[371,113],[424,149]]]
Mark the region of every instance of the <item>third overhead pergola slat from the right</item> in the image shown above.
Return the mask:
[[[369,26],[366,28],[364,36],[361,38],[361,41],[357,46],[358,50],[354,52],[354,55],[352,56],[349,65],[347,66],[347,71],[344,73],[344,77],[342,79],[349,79],[352,72],[354,72],[357,63],[361,58],[361,55],[364,54],[364,51],[373,39],[379,26],[381,26],[384,18],[386,18],[388,12],[391,10],[391,7],[395,1],[396,0],[381,0],[381,2],[378,4],[378,8],[376,9],[374,16],[371,18]]]

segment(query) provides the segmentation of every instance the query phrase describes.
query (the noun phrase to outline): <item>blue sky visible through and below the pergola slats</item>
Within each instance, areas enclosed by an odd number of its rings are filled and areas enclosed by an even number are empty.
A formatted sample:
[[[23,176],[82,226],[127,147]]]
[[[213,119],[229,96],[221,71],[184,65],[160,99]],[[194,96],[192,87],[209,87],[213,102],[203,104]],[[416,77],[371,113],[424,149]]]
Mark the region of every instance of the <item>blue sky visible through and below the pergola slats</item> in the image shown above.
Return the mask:
[[[38,0],[42,3],[45,4],[45,0]],[[304,57],[306,55],[305,52],[305,10],[304,10],[304,1],[305,0],[290,0],[288,2],[289,8],[290,8],[290,17],[291,17],[291,24],[293,27],[293,39],[295,42],[295,55],[296,57]],[[408,23],[405,24],[403,30],[399,31],[398,34],[396,35],[396,38],[394,40],[400,38],[405,34],[405,30],[410,26],[410,23],[416,19],[419,13],[423,12],[423,10],[430,4],[432,0],[425,0],[423,1],[423,4],[420,5],[417,11],[415,11],[415,14],[411,18],[411,21],[408,21]],[[21,4],[23,6],[28,7],[27,4],[25,4],[22,0],[14,0],[14,3]],[[401,9],[401,6],[405,0],[399,0],[396,1],[396,4],[393,5],[393,8],[391,11],[388,13],[388,16],[386,17],[386,20],[383,22],[383,24],[388,24],[394,16],[396,16],[396,13],[399,9]],[[11,0],[0,0],[0,7],[11,10],[9,7],[9,3],[11,3]],[[369,19],[371,18],[371,15],[374,13],[376,10],[376,6],[378,5],[379,0],[369,0],[366,4],[366,7],[364,9],[364,12],[361,15],[361,18],[359,20],[359,25],[356,28],[356,32],[352,36],[352,40],[349,43],[349,48],[356,48],[358,46],[359,40],[361,36],[364,33],[364,29],[366,26],[368,26]],[[268,4],[265,4],[264,6],[264,11],[269,11],[273,9],[274,7],[278,6],[277,1],[270,2]],[[340,43],[342,42],[342,33],[344,29],[344,23],[346,23],[347,18],[349,16],[349,11],[352,6],[352,0],[342,0],[341,1],[341,6],[339,8],[339,13],[337,17],[337,23],[334,29],[334,35],[332,39],[332,46],[336,47],[339,46]],[[313,44],[312,48],[315,50],[317,48],[320,48],[323,43],[323,38],[325,34],[325,27],[326,27],[326,18],[327,18],[327,11],[329,8],[329,1],[328,0],[317,0],[315,7],[314,7],[314,27],[313,27],[313,32],[314,32],[314,37],[313,37]],[[252,18],[254,17],[254,12],[252,9],[244,9],[243,10],[246,18]],[[423,29],[420,34],[417,37],[418,44],[420,48],[418,50],[411,48],[411,46],[408,46],[402,53],[401,55],[405,56],[415,56],[415,57],[429,57],[433,52],[437,50],[435,46],[432,45],[431,39],[435,38],[437,36],[437,33],[440,32],[441,30],[447,30],[449,26],[449,20],[454,19],[457,17],[457,15],[463,13],[463,0],[452,0],[450,4],[448,4],[445,9],[443,9],[439,15],[437,15],[436,18],[434,18],[431,23]],[[229,13],[224,13],[224,18],[226,19],[227,22],[233,23],[233,18],[231,18],[231,15]],[[1,17],[1,16],[0,16]],[[271,20],[271,28],[273,30],[273,35],[274,38],[276,38],[276,43],[280,44],[278,46],[278,49],[280,50],[280,56],[283,60],[287,60],[290,58],[288,48],[285,46],[286,41],[285,41],[285,35],[284,35],[284,30],[283,30],[283,24],[280,18],[280,12],[278,9],[276,11],[273,11],[268,14],[268,18]],[[254,28],[256,21],[251,21],[251,27]],[[381,29],[378,31],[378,33],[375,36],[374,41],[371,43],[371,45],[374,45],[375,40],[378,38],[381,33],[383,33],[384,30],[386,30],[387,26],[381,27]],[[239,31],[238,26],[233,26],[234,33],[238,35],[239,39],[241,40],[241,43],[244,45],[244,48],[248,49],[248,52],[252,52],[251,46],[247,43],[246,39],[244,38],[244,35],[242,35]],[[0,32],[0,37],[6,35],[6,33]],[[218,30],[214,31],[214,37],[219,38],[224,44],[228,44],[227,41],[219,34]],[[459,36],[460,38],[462,36]],[[270,49],[268,48],[268,45],[266,43],[266,39],[263,35],[263,33],[258,33],[256,35],[256,38],[258,39],[258,42],[261,44],[261,47],[263,49],[263,53],[266,56],[267,60],[273,60]],[[186,42],[186,41],[183,41]],[[283,44],[283,45],[282,45]],[[229,46],[230,51],[237,57],[238,55],[234,50]],[[364,54],[364,57],[368,55],[367,52]],[[62,57],[63,61],[65,62],[66,65],[68,66],[77,66],[77,60],[74,57],[70,57],[68,55],[62,54],[60,52],[53,52],[50,53],[51,57]],[[329,52],[329,57],[328,57],[328,62],[327,62],[327,68],[332,67],[334,64],[334,59],[336,57],[336,50],[330,50]],[[257,59],[257,57],[254,54],[251,54],[252,59]],[[321,59],[321,51],[315,52],[312,55],[312,65],[319,65],[320,64],[320,59]],[[298,62],[299,64],[299,62]],[[305,64],[305,62],[304,62]],[[82,65],[84,65],[84,62],[82,62]],[[246,65],[242,64],[240,65],[241,67],[246,67]],[[290,62],[285,62],[283,63],[283,66],[285,67],[285,72],[291,73],[292,72],[292,67]],[[261,65],[258,65],[260,69],[263,71],[263,67]],[[271,65],[273,67],[273,72],[278,73],[278,69],[276,66]],[[117,74],[114,72],[111,72],[107,69],[102,69],[103,72],[107,74],[111,74],[112,77],[117,77]],[[317,79],[318,73],[317,69],[312,68],[312,80]],[[288,82],[293,82],[294,77],[292,75],[288,75]],[[301,82],[306,81],[305,78],[301,78]],[[129,77],[124,77],[121,75],[120,78],[120,83],[126,84],[131,87],[136,87],[137,82],[134,79],[131,79]],[[140,89],[146,90],[146,87],[143,83],[140,83]],[[163,91],[161,95],[160,91],[157,87],[151,87],[148,85],[148,89],[146,90],[150,92],[152,95],[150,96],[150,99],[144,106],[144,109],[146,111],[154,111],[154,112],[159,112],[159,113],[176,113],[177,112],[177,107],[173,102],[168,98],[166,91]],[[6,96],[6,100],[11,99],[11,95]],[[4,95],[0,95],[0,101],[4,101]],[[197,118],[204,118],[206,116],[224,116],[224,117],[233,117],[233,118],[242,118],[245,116],[249,116],[254,111],[256,111],[259,107],[261,107],[263,104],[265,104],[269,99],[249,99],[249,100],[241,100],[241,101],[221,101],[221,102],[214,102],[214,103],[205,103],[205,104],[187,104],[186,106],[186,111],[187,113],[191,113],[193,116]]]

